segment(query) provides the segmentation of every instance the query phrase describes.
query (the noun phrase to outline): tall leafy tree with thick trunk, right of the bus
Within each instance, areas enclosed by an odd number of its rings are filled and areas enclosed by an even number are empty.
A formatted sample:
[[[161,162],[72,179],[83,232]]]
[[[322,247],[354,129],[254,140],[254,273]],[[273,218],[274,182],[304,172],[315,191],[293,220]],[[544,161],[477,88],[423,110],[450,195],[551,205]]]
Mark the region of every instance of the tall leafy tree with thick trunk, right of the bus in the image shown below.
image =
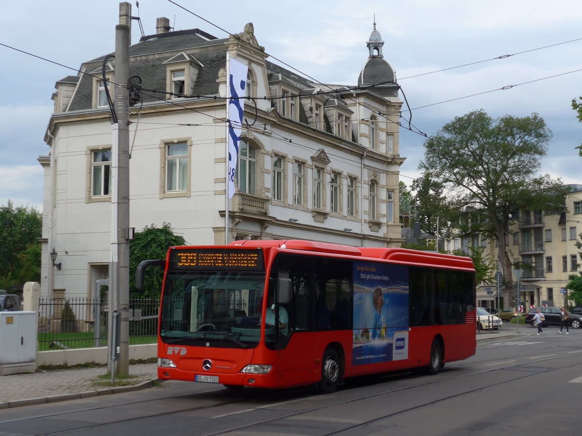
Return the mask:
[[[425,141],[419,168],[443,188],[451,190],[449,210],[459,213],[460,231],[480,232],[496,240],[503,277],[512,277],[506,235],[516,210],[563,210],[567,187],[548,175],[538,176],[540,159],[552,137],[545,121],[505,115],[493,119],[475,110],[445,124]],[[471,219],[461,213],[472,210]],[[503,283],[503,303],[511,306],[512,283]]]

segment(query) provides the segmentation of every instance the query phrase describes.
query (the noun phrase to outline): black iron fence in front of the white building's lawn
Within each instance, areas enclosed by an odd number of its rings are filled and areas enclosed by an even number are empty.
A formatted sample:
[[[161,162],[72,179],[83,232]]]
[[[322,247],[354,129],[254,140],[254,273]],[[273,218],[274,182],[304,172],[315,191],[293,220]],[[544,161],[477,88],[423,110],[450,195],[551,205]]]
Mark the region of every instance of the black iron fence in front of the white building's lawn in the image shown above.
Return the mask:
[[[129,343],[157,341],[159,299],[129,302]],[[89,298],[41,298],[38,309],[38,349],[107,346],[107,301]]]

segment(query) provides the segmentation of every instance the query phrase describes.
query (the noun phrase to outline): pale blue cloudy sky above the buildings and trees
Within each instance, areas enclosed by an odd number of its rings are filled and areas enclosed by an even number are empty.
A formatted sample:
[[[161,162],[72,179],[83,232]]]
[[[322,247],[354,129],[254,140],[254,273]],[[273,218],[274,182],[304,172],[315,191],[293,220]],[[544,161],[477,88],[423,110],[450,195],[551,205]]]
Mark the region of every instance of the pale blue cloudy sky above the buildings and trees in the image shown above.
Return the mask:
[[[571,107],[582,95],[580,0],[227,0],[220,6],[141,0],[139,8],[130,3],[145,35],[155,34],[157,17],[168,17],[175,30],[200,28],[218,38],[252,22],[258,43],[277,58],[271,62],[342,85],[357,84],[375,17],[384,59],[396,72],[400,99],[406,96],[418,130],[430,136],[477,109],[495,118],[535,112],[553,132],[542,173],[582,184],[576,149],[582,123]],[[76,75],[82,62],[115,51],[119,1],[5,2],[2,15],[0,205],[10,199],[15,206],[42,210],[37,158],[49,153],[44,135],[55,82]],[[140,37],[133,20],[132,43]],[[406,158],[400,180],[407,185],[420,174],[424,140],[400,129],[400,156]]]

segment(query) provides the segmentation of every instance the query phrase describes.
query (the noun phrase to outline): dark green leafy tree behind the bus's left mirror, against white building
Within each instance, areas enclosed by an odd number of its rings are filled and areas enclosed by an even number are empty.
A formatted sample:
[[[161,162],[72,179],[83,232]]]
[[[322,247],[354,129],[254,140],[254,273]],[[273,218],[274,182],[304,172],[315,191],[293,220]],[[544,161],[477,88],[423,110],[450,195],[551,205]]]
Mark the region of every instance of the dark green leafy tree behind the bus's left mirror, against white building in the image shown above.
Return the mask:
[[[136,288],[136,268],[142,260],[165,259],[168,248],[174,245],[185,245],[186,241],[172,231],[168,223],[162,227],[155,224],[145,226],[143,231],[136,233],[129,244],[129,295],[130,298],[159,298],[162,290],[164,271],[160,268],[148,269],[143,290]]]

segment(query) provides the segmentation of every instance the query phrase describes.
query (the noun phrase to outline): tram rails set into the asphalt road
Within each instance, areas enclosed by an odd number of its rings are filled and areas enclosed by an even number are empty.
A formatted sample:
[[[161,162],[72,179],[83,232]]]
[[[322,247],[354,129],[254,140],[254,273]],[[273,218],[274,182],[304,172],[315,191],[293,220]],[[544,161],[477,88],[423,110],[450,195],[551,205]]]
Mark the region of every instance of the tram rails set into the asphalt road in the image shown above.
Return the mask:
[[[367,395],[359,395],[359,396],[354,396],[353,398],[348,398],[342,401],[336,401],[336,402],[330,402],[324,405],[320,405],[320,406],[315,406],[313,408],[308,408],[308,409],[303,409],[297,412],[292,412],[292,413],[284,413],[284,414],[280,414],[279,416],[275,416],[275,417],[271,417],[269,419],[264,419],[264,420],[257,420],[254,421],[252,423],[247,423],[244,424],[242,426],[233,426],[230,428],[225,428],[223,430],[219,430],[219,431],[215,431],[213,433],[201,433],[200,436],[204,435],[204,436],[218,436],[218,435],[222,435],[222,434],[228,434],[228,433],[233,433],[236,431],[249,431],[251,428],[254,427],[258,427],[264,424],[273,424],[276,423],[276,421],[279,420],[286,420],[286,419],[290,419],[290,418],[296,418],[296,417],[300,417],[303,414],[307,414],[307,413],[311,413],[311,412],[317,412],[318,410],[325,410],[325,409],[329,409],[329,408],[333,408],[335,406],[340,406],[340,405],[344,405],[347,403],[353,403],[353,402],[358,402],[358,401],[364,401],[366,399],[371,399],[371,398],[375,398],[381,395],[388,395],[388,394],[394,394],[396,392],[402,392],[402,391],[407,391],[410,389],[414,389],[414,388],[419,388],[419,387],[424,387],[427,385],[432,385],[432,384],[438,384],[438,383],[443,383],[446,381],[451,381],[451,380],[455,380],[455,379],[459,379],[459,378],[464,378],[464,377],[469,377],[469,376],[476,376],[478,374],[483,374],[483,373],[492,373],[495,371],[501,371],[501,370],[507,370],[507,369],[513,369],[513,368],[519,368],[519,367],[523,367],[523,366],[530,366],[531,364],[536,364],[536,363],[542,363],[542,362],[548,362],[551,360],[559,360],[559,359],[566,359],[572,357],[572,354],[564,354],[564,352],[562,352],[562,355],[558,355],[558,356],[551,356],[551,357],[545,357],[545,358],[538,358],[535,360],[530,360],[529,362],[523,362],[523,363],[517,363],[517,364],[512,364],[512,365],[505,365],[502,367],[496,367],[496,368],[489,368],[489,369],[483,369],[483,370],[478,370],[478,371],[471,371],[470,373],[464,373],[464,374],[458,374],[452,377],[443,377],[443,378],[438,378],[437,380],[430,380],[430,381],[423,381],[422,383],[414,383],[411,385],[407,385],[405,387],[399,387],[399,388],[395,388],[395,389],[388,389],[388,390],[384,390],[381,392],[375,392],[374,394],[367,394]],[[475,364],[482,364],[479,362],[473,362]],[[439,403],[439,402],[444,402],[444,401],[449,401],[450,399],[454,399],[454,398],[459,398],[462,397],[464,395],[469,395],[472,394],[474,392],[478,392],[481,391],[483,389],[488,389],[488,388],[492,388],[492,387],[499,387],[500,385],[503,384],[508,384],[508,383],[514,383],[515,381],[519,381],[519,380],[523,380],[526,378],[530,378],[530,377],[534,377],[534,376],[539,376],[541,374],[544,373],[549,373],[552,371],[556,371],[556,370],[560,370],[560,369],[566,369],[566,368],[570,368],[570,367],[575,367],[575,366],[580,366],[582,363],[574,363],[571,365],[566,365],[566,366],[560,366],[558,368],[551,368],[551,369],[540,369],[540,371],[535,371],[535,373],[528,373],[525,374],[523,376],[520,377],[512,377],[509,380],[505,380],[505,381],[501,381],[498,383],[491,383],[491,384],[484,384],[481,385],[478,388],[473,388],[473,389],[467,389],[466,391],[463,392],[458,392],[454,395],[450,395],[450,396],[446,396],[443,397],[441,399],[437,399],[437,400],[432,400],[432,401],[427,401],[427,402],[423,402],[417,405],[414,405],[413,407],[410,408],[404,408],[402,410],[398,410],[395,411],[393,413],[386,413],[386,414],[382,414],[382,416],[379,417],[375,417],[374,419],[370,419],[361,423],[357,423],[357,424],[353,424],[350,426],[347,426],[345,428],[342,428],[340,430],[336,430],[336,431],[332,431],[331,433],[327,433],[325,434],[325,436],[332,436],[332,435],[339,435],[342,434],[344,432],[350,431],[350,430],[355,430],[356,428],[359,427],[363,427],[363,426],[367,426],[370,424],[374,424],[375,422],[379,421],[379,420],[383,420],[383,419],[387,419],[387,418],[391,418],[394,416],[398,416],[399,414],[403,414],[403,413],[407,413],[410,412],[411,410],[418,410],[418,409],[422,409],[424,407],[430,406],[430,405],[434,405],[435,403]],[[462,365],[459,365],[462,366]],[[457,365],[455,365],[455,367],[457,367]],[[402,376],[403,373],[395,373],[395,374],[391,374],[391,377],[398,377],[398,376]],[[364,387],[363,387],[364,388]],[[362,388],[362,389],[363,389]],[[359,390],[359,388],[355,388],[354,390],[352,390],[352,392],[354,392],[354,394],[357,394],[357,390]],[[132,417],[132,418],[128,418],[128,419],[118,419],[118,420],[112,420],[109,421],[107,423],[97,423],[97,424],[91,424],[88,426],[79,426],[76,428],[69,428],[66,430],[60,430],[60,431],[51,431],[48,433],[42,433],[42,434],[38,434],[38,436],[49,436],[49,435],[56,435],[56,434],[71,434],[74,432],[81,432],[81,431],[87,431],[87,430],[95,430],[98,428],[107,428],[108,426],[114,426],[115,424],[122,424],[122,423],[129,423],[129,422],[138,422],[138,421],[143,421],[143,420],[147,420],[147,419],[152,419],[155,417],[162,417],[162,416],[172,416],[173,414],[180,414],[180,413],[188,413],[188,412],[196,412],[199,410],[205,410],[205,409],[213,409],[213,408],[219,408],[222,406],[229,406],[229,405],[237,405],[240,403],[245,403],[248,402],[249,400],[253,400],[253,401],[265,401],[265,405],[264,406],[254,406],[252,408],[249,408],[248,410],[241,410],[240,412],[235,412],[232,414],[236,414],[236,413],[247,413],[247,412],[252,412],[254,410],[258,410],[258,409],[272,409],[272,408],[276,408],[276,406],[278,405],[282,405],[283,403],[289,403],[289,402],[294,402],[294,401],[300,401],[301,398],[304,398],[304,393],[305,392],[310,392],[311,389],[309,388],[300,388],[294,391],[290,391],[289,389],[285,390],[285,391],[275,391],[272,393],[269,393],[267,395],[257,395],[254,396],[252,398],[249,398],[249,396],[244,396],[244,398],[237,398],[235,400],[231,400],[231,401],[221,401],[221,402],[217,402],[217,403],[212,403],[212,404],[207,404],[207,405],[202,405],[202,406],[196,406],[196,407],[192,407],[192,408],[180,408],[177,410],[170,410],[168,412],[159,412],[159,413],[151,413],[151,414],[147,414],[146,416],[140,416],[140,417]],[[127,402],[127,403],[123,403],[123,404],[116,404],[114,406],[100,406],[97,408],[87,408],[87,409],[83,409],[83,410],[73,410],[73,411],[68,411],[68,412],[63,412],[63,413],[54,413],[54,414],[47,414],[44,416],[38,416],[38,418],[41,417],[51,417],[51,418],[58,418],[61,415],[64,414],[70,414],[70,413],[76,413],[76,412],[82,412],[82,411],[91,411],[91,410],[104,410],[107,408],[111,408],[111,407],[119,407],[119,406],[123,406],[123,405],[136,405],[139,403],[145,403],[145,402],[152,402],[152,401],[163,401],[166,399],[176,399],[176,398],[180,398],[180,397],[188,397],[188,396],[196,396],[196,395],[200,395],[200,394],[208,394],[208,395],[212,395],[214,393],[217,394],[221,394],[223,391],[204,391],[204,392],[200,392],[200,393],[195,393],[195,394],[184,394],[184,395],[180,395],[180,396],[167,396],[164,398],[157,398],[157,399],[148,399],[148,400],[144,400],[144,401],[139,401],[139,402]],[[343,391],[345,392],[345,391]],[[296,396],[297,398],[292,398],[290,399],[290,396]],[[326,396],[323,396],[322,398],[325,398]],[[278,398],[284,398],[285,401],[284,402],[277,402]],[[221,417],[221,416],[218,416]],[[30,418],[28,418],[30,419]],[[349,434],[349,433],[346,433]]]

